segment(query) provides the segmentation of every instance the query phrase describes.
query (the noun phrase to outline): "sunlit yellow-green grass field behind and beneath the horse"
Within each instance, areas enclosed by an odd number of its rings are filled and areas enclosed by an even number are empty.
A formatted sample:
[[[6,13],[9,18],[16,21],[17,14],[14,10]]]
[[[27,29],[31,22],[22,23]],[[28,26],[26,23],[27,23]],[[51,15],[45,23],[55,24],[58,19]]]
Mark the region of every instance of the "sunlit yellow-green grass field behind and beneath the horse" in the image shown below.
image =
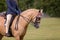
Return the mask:
[[[3,40],[15,40],[4,37]],[[40,28],[29,25],[24,40],[60,40],[60,18],[42,18]]]

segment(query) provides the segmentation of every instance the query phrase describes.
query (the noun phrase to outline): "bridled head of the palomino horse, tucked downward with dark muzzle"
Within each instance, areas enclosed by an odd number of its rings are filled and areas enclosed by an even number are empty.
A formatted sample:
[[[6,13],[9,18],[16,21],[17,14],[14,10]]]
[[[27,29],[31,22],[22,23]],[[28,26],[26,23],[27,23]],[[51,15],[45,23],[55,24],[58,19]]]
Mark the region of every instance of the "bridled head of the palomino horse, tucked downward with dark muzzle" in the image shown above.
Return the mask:
[[[40,25],[40,20],[42,17],[42,9],[38,11],[38,14],[34,17],[34,19],[32,20],[34,27],[39,28]]]

